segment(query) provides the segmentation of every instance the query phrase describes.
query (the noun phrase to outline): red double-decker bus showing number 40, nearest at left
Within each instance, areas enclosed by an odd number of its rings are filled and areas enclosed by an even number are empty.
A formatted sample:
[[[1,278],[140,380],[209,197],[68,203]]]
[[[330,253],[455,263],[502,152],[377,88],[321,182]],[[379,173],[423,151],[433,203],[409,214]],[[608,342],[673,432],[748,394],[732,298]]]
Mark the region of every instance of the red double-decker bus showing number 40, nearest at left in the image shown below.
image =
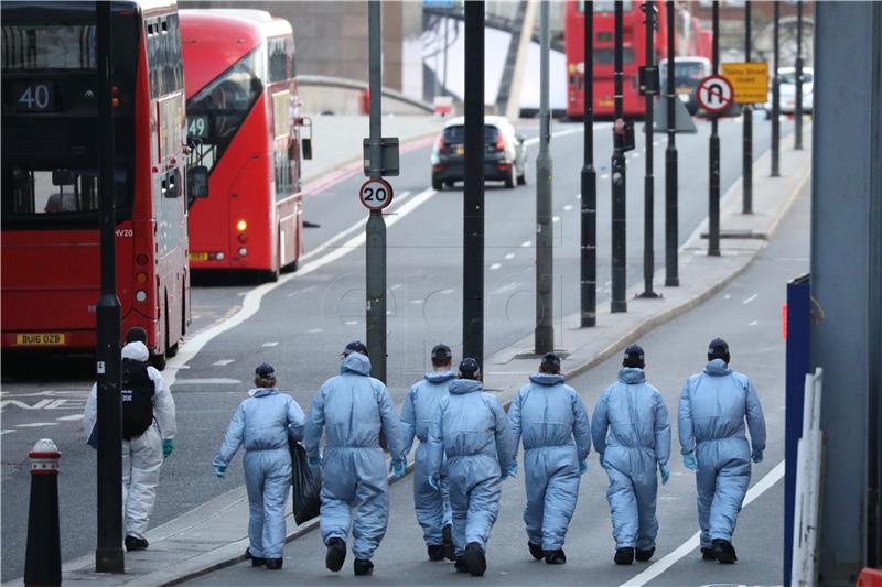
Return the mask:
[[[2,347],[94,349],[95,2],[2,3]],[[184,79],[173,1],[112,3],[122,333],[163,367],[190,324]]]

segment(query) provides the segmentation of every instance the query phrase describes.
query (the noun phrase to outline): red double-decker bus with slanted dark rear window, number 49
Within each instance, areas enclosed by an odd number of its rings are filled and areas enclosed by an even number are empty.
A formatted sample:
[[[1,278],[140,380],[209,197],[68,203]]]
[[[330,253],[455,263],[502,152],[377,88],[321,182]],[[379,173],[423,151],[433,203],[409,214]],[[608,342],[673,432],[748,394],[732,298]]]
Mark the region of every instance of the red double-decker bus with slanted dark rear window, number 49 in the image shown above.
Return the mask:
[[[191,268],[276,281],[303,248],[291,25],[259,10],[183,10],[181,34],[194,163],[211,173],[190,214]]]

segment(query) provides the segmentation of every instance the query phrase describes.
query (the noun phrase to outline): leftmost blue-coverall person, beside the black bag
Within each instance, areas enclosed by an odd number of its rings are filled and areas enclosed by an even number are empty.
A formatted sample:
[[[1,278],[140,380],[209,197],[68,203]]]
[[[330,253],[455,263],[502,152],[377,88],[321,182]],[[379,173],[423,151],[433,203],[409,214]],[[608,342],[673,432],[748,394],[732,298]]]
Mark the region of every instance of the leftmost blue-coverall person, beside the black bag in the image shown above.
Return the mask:
[[[284,500],[291,491],[288,437],[303,437],[305,415],[288,394],[276,389],[276,371],[263,363],[255,370],[255,385],[233,414],[220,450],[212,460],[217,477],[245,447],[245,487],[248,490],[248,539],[245,551],[252,566],[282,567]]]

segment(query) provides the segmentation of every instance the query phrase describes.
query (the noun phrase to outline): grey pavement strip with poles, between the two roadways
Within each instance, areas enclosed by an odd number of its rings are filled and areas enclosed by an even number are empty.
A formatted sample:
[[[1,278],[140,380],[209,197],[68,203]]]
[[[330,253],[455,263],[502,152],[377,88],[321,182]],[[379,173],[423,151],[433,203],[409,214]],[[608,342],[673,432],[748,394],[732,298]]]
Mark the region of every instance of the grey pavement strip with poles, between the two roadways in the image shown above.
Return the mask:
[[[401,117],[404,118],[404,117]],[[807,128],[810,133],[810,128]],[[419,137],[422,130],[415,130]],[[434,133],[435,131],[432,131]],[[385,132],[385,134],[390,134]],[[810,144],[810,139],[806,140]],[[660,300],[635,298],[643,286],[628,291],[628,312],[612,316],[603,305],[599,307],[598,326],[580,329],[578,315],[570,314],[556,324],[556,347],[568,357],[563,370],[570,378],[603,363],[626,343],[648,333],[660,324],[702,304],[741,274],[766,248],[767,239],[803,191],[808,181],[810,151],[795,152],[790,139],[782,141],[781,178],[768,178],[768,153],[754,166],[755,214],[740,214],[740,182],[727,192],[721,205],[721,226],[725,229],[750,230],[760,238],[724,239],[722,256],[706,254],[707,243],[701,239],[706,231],[699,225],[680,247],[680,287],[656,290]],[[357,155],[356,155],[357,156]],[[681,176],[686,163],[681,160]],[[657,189],[657,193],[660,191]],[[657,249],[658,250],[658,249]],[[664,283],[659,271],[656,284]],[[704,343],[702,343],[704,344]],[[184,347],[184,350],[187,347]],[[485,382],[502,401],[510,400],[514,391],[524,383],[526,374],[535,371],[531,337],[505,346],[485,360]],[[404,489],[400,489],[404,490]],[[396,491],[399,491],[398,489]],[[309,534],[314,522],[304,528],[293,528],[289,521],[290,540]],[[212,569],[236,563],[247,545],[247,501],[239,487],[206,501],[184,515],[178,517],[148,533],[150,550],[127,555],[125,576],[103,576],[90,573],[93,556],[87,555],[64,565],[65,583],[107,585],[168,585],[196,577]],[[297,543],[295,543],[297,544]],[[12,581],[12,584],[21,583]]]

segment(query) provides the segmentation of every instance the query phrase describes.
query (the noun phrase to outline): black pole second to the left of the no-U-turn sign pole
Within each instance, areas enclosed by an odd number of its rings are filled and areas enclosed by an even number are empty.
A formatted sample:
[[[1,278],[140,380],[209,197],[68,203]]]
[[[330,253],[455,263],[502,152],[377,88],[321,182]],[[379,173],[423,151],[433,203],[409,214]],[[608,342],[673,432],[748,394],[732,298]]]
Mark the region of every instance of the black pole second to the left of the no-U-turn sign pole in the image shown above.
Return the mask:
[[[653,99],[655,89],[650,89],[649,78],[654,77],[655,70],[655,43],[653,35],[655,32],[655,2],[644,2],[643,11],[646,17],[645,33],[645,57],[646,57],[646,79],[644,104],[646,108],[646,120],[643,124],[645,144],[643,151],[646,156],[646,172],[643,180],[643,293],[644,298],[659,297],[653,291],[653,273],[655,273],[655,177],[653,176]]]

